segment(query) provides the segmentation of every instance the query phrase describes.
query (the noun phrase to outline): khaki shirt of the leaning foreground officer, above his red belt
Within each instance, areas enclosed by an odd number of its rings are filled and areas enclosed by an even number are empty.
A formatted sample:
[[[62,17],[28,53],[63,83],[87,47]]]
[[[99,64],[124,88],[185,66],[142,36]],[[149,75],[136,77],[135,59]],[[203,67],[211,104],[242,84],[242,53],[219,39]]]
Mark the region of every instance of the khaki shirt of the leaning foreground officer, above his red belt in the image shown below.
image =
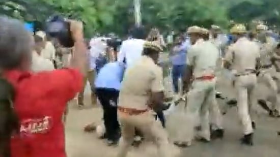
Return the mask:
[[[162,69],[152,58],[142,56],[124,74],[119,96],[119,106],[145,110],[151,92],[163,91]]]

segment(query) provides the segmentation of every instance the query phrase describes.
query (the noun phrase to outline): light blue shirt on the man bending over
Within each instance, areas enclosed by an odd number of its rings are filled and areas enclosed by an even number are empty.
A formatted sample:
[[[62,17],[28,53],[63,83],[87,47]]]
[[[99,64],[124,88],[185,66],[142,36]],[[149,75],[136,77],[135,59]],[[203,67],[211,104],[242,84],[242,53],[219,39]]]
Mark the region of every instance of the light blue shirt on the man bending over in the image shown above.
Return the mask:
[[[109,62],[97,74],[95,87],[120,90],[124,69],[120,62]]]

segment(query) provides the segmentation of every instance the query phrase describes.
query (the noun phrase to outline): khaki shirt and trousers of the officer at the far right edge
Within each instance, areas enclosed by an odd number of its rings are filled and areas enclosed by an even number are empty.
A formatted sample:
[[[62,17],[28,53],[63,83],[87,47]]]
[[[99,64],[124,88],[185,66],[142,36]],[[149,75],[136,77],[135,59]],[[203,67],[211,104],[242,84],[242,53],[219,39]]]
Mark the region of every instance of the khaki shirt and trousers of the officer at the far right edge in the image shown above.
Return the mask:
[[[260,43],[260,56],[261,56],[261,71],[258,76],[260,83],[266,85],[270,91],[271,95],[269,101],[272,104],[272,110],[277,109],[277,85],[276,82],[272,79],[272,74],[275,71],[272,69],[271,57],[273,56],[272,43]]]

